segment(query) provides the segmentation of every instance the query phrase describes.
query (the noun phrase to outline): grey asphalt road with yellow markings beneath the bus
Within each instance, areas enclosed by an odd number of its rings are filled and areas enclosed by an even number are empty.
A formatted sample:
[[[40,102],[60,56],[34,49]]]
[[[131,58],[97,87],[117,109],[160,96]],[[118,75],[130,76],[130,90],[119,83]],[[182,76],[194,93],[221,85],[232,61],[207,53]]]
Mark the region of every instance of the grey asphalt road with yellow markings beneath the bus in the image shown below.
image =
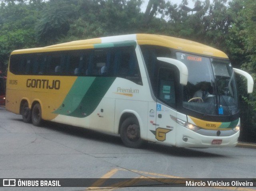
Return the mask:
[[[0,178],[256,178],[256,149],[188,149],[149,143],[126,148],[119,136],[51,122],[42,127],[0,107]],[[96,190],[95,187],[0,190]],[[100,188],[99,190],[238,190],[256,188]]]

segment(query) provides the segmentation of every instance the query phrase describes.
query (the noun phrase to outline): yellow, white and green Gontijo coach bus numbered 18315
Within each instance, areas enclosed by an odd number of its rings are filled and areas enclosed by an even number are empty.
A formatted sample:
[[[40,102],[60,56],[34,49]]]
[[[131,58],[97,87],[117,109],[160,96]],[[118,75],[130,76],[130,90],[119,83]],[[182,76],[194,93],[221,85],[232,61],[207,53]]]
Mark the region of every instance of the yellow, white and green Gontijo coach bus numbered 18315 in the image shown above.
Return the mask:
[[[236,146],[238,97],[228,56],[185,39],[131,34],[13,51],[6,108],[42,120],[120,134],[124,144]]]

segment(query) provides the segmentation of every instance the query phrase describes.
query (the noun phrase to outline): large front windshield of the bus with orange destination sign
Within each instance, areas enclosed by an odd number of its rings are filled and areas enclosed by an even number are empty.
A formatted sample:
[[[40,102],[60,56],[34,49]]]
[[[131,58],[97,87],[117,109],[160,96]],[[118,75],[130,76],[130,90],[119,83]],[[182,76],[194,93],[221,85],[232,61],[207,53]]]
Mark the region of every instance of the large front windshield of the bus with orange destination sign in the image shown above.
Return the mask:
[[[183,107],[204,116],[232,116],[239,112],[234,72],[228,60],[176,53],[188,67]]]

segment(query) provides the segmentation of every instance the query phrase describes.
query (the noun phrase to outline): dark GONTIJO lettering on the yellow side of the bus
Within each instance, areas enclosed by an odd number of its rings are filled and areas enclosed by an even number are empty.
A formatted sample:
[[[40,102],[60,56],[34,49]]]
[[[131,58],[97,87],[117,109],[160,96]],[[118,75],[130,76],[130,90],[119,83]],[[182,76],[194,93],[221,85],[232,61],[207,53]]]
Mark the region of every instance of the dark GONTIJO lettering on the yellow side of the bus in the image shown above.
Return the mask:
[[[60,89],[60,80],[46,80],[46,79],[27,79],[26,86],[28,88],[42,88],[42,89]]]

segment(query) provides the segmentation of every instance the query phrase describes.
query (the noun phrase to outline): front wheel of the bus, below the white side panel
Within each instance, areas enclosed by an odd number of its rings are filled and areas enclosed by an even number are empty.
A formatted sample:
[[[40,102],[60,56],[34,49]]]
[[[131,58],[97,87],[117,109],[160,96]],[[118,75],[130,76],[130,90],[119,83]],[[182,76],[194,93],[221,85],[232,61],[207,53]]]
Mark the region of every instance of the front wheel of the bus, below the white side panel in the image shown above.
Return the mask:
[[[140,138],[140,124],[134,116],[124,120],[121,125],[120,136],[127,147],[140,148],[144,144],[144,141]]]

